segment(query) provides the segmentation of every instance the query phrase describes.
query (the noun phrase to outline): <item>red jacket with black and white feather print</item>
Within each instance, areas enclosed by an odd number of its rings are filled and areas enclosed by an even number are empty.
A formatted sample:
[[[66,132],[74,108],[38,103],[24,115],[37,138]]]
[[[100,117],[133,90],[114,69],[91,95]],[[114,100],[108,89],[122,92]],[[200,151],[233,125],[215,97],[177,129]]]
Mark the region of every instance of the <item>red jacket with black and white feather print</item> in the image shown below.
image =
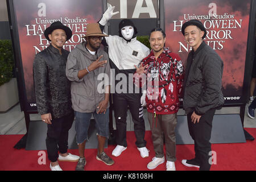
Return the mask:
[[[155,60],[153,51],[141,62],[147,65],[146,81],[142,75],[134,74],[137,86],[146,86],[147,110],[156,114],[174,114],[179,110],[179,97],[182,93],[184,69],[176,53],[164,47],[164,51]],[[147,83],[147,84],[146,84]],[[146,85],[145,85],[146,84]]]

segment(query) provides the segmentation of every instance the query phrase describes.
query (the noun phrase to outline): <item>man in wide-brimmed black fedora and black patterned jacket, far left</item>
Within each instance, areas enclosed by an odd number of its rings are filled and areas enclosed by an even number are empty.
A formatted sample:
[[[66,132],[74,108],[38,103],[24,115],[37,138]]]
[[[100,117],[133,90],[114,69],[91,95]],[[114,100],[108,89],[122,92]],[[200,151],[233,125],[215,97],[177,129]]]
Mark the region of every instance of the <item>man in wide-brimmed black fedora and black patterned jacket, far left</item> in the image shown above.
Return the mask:
[[[35,56],[33,64],[36,105],[42,121],[47,123],[46,147],[50,168],[62,171],[58,159],[70,162],[79,159],[79,156],[67,152],[74,111],[70,82],[65,76],[69,51],[63,49],[63,45],[71,38],[72,31],[61,22],[54,22],[46,28],[44,36],[51,44]]]

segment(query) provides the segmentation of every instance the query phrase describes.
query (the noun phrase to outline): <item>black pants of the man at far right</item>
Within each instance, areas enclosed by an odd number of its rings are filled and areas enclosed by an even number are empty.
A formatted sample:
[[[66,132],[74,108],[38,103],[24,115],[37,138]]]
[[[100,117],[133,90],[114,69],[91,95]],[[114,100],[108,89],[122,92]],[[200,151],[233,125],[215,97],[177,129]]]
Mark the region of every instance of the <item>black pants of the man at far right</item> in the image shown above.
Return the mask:
[[[187,115],[189,134],[195,141],[195,160],[200,164],[200,171],[209,171],[211,164],[209,159],[211,155],[210,135],[212,132],[212,120],[216,109],[208,110],[201,116],[199,123],[192,123],[191,115]]]

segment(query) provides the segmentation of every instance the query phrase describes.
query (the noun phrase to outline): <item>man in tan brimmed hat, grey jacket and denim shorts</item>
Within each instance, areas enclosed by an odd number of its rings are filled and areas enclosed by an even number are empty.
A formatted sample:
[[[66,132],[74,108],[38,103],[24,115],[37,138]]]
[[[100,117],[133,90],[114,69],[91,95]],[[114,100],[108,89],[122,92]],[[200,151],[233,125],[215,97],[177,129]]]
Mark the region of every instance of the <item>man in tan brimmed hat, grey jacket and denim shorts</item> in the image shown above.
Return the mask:
[[[108,35],[102,34],[98,23],[89,23],[86,28],[86,42],[77,45],[69,54],[67,61],[66,76],[72,81],[71,100],[75,110],[80,154],[77,171],[84,171],[86,164],[85,142],[88,139],[92,114],[96,121],[98,138],[96,159],[109,166],[114,164],[104,152],[105,141],[109,136],[110,66],[108,54],[100,49],[103,36]]]

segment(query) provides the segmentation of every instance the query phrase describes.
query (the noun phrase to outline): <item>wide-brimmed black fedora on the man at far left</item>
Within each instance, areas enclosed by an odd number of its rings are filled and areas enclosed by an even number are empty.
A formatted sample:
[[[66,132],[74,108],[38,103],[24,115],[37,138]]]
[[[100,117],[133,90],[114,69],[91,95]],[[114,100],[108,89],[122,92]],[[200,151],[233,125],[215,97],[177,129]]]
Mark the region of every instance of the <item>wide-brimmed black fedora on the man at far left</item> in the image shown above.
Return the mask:
[[[51,41],[49,39],[49,34],[51,34],[51,32],[53,30],[56,30],[56,29],[62,29],[66,32],[66,35],[67,35],[67,40],[69,40],[72,36],[72,31],[69,27],[67,26],[64,26],[64,24],[62,24],[60,21],[57,21],[57,22],[53,22],[51,24],[51,26],[49,26],[48,28],[46,28],[46,30],[44,31],[44,36],[46,37],[47,40]],[[66,41],[67,41],[66,40]]]

